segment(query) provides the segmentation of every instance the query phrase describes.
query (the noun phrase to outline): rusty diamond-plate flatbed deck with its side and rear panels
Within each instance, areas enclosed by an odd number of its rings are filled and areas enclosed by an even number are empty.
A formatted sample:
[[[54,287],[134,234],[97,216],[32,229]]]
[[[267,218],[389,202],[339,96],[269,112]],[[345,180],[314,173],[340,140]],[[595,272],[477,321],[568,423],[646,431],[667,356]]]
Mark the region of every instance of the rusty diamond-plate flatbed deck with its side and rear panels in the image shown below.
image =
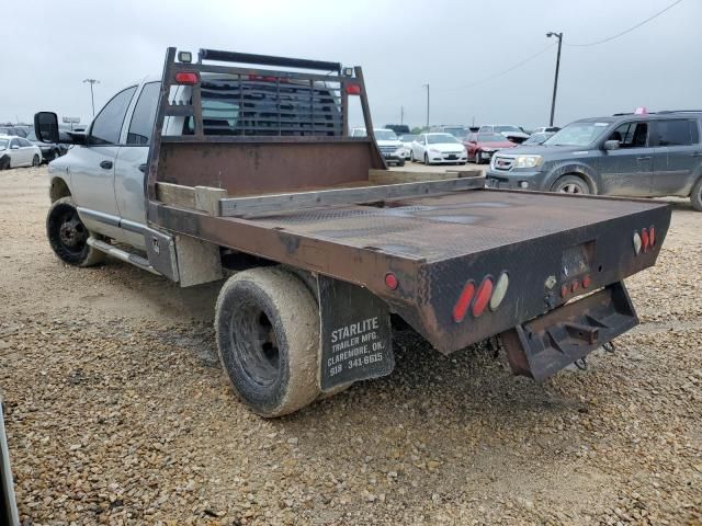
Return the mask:
[[[513,328],[571,299],[561,287],[564,253],[587,244],[596,290],[655,264],[668,230],[667,205],[582,199],[563,194],[467,191],[442,196],[271,215],[218,218],[152,204],[169,230],[364,286],[442,353]],[[634,230],[656,228],[656,245],[636,255]],[[399,286],[385,286],[387,272]],[[507,272],[495,312],[456,323],[452,310],[468,279]],[[552,279],[553,278],[553,279]]]

